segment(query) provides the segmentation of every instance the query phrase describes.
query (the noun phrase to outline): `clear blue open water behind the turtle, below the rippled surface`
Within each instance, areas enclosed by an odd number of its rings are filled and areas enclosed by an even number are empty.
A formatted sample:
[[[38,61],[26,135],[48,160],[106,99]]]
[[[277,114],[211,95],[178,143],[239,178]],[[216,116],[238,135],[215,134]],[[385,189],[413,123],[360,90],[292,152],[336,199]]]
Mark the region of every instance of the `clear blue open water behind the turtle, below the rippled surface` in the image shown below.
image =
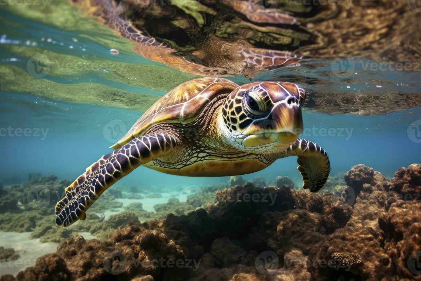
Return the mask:
[[[8,161],[3,161],[0,166],[1,178],[7,183],[12,183],[14,178],[26,178],[27,173],[56,174],[70,179],[78,177],[84,167],[111,151],[108,147],[113,143],[110,141],[123,136],[123,131],[114,131],[114,125],[124,124],[128,129],[141,114],[111,107],[67,104],[24,94],[2,94],[3,124],[11,128],[43,129],[37,132],[39,136],[0,138],[1,146],[7,148],[3,157]],[[304,127],[309,129],[304,131],[303,137],[320,144],[329,153],[332,174],[364,163],[393,175],[400,167],[419,161],[419,144],[410,140],[407,131],[410,123],[421,118],[418,109],[382,116],[328,115],[304,110],[303,118]],[[104,126],[107,127],[104,129]],[[112,128],[113,135],[109,128]],[[332,136],[328,135],[329,129],[332,129]],[[33,132],[35,134],[35,130]],[[280,175],[300,176],[293,157],[277,160],[267,169],[246,178],[257,175],[268,181]],[[139,167],[118,184],[201,185],[227,180],[228,177],[172,176]]]

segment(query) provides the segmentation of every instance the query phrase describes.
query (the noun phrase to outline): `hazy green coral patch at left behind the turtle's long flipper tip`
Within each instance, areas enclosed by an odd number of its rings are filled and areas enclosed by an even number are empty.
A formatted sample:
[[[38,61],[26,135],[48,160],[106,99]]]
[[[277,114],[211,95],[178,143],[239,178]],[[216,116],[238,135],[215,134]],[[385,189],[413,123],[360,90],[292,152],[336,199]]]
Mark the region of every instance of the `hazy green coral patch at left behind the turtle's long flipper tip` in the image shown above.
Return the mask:
[[[40,238],[41,242],[60,243],[80,232],[91,232],[99,238],[108,237],[107,233],[114,231],[123,224],[105,223],[98,226],[103,220],[96,212],[102,213],[108,209],[121,208],[123,203],[117,198],[124,194],[119,190],[109,190],[105,193],[87,214],[84,223],[77,223],[67,228],[58,228],[54,224],[55,216],[52,214],[57,198],[61,198],[64,188],[69,185],[66,179],[58,179],[54,175],[38,177],[31,175],[28,182],[23,185],[13,185],[10,190],[0,189],[0,229],[4,231],[29,232],[30,238]],[[125,214],[119,214],[125,216]],[[112,219],[111,216],[109,219]],[[124,221],[127,221],[126,218]],[[107,220],[109,221],[109,220]],[[94,228],[93,228],[94,227]],[[91,230],[93,228],[93,230]],[[98,231],[96,231],[98,230]],[[101,231],[99,231],[101,230]]]

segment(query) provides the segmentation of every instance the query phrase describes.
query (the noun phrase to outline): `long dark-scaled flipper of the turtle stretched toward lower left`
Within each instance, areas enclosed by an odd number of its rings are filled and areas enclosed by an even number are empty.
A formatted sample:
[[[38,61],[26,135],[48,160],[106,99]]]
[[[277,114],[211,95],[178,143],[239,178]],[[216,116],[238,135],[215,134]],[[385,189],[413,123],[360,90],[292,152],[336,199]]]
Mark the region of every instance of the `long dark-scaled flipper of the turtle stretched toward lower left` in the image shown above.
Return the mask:
[[[56,225],[68,226],[84,220],[86,210],[108,187],[133,169],[157,159],[176,146],[167,133],[140,136],[104,155],[65,189],[66,196],[56,205]]]

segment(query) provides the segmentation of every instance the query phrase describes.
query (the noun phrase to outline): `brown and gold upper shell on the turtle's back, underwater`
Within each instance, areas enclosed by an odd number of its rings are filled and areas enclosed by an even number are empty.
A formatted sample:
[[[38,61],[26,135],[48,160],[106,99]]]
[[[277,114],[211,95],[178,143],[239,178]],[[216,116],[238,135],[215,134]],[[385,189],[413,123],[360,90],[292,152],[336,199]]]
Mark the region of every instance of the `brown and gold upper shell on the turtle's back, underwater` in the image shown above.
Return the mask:
[[[117,149],[152,126],[162,123],[190,123],[199,116],[206,104],[219,94],[231,93],[238,85],[224,78],[197,78],[182,83],[158,99],[115,145]]]

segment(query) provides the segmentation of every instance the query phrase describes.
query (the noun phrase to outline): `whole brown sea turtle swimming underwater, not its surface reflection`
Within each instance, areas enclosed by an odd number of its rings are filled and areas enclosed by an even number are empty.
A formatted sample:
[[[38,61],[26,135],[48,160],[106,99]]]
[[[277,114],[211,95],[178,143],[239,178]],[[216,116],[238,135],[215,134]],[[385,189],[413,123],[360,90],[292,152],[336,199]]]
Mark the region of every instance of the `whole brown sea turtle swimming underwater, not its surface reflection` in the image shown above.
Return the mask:
[[[301,86],[224,78],[187,81],[160,98],[128,133],[65,189],[56,224],[71,225],[117,180],[143,165],[173,175],[216,177],[262,170],[298,156],[303,187],[320,190],[330,172],[325,150],[298,138]]]

